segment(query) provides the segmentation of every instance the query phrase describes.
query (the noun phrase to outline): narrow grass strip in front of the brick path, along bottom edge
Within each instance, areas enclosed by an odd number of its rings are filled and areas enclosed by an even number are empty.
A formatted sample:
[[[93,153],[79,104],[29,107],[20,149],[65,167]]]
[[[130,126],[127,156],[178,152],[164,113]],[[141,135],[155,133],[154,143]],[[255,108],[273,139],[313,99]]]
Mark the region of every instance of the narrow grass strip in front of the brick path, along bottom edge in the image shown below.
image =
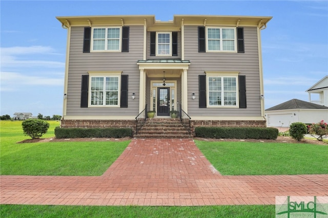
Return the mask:
[[[275,217],[274,205],[48,206],[1,205],[1,217]]]

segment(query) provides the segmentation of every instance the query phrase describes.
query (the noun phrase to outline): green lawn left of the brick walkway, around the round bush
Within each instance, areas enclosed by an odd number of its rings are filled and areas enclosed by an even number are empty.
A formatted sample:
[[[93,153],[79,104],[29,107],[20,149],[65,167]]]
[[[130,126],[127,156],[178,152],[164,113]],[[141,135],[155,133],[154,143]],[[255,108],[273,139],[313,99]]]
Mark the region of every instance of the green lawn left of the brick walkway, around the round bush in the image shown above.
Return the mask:
[[[58,122],[49,122],[43,138],[53,137]],[[19,126],[20,124],[20,126]],[[130,141],[16,143],[22,122],[1,122],[1,175],[100,176]]]

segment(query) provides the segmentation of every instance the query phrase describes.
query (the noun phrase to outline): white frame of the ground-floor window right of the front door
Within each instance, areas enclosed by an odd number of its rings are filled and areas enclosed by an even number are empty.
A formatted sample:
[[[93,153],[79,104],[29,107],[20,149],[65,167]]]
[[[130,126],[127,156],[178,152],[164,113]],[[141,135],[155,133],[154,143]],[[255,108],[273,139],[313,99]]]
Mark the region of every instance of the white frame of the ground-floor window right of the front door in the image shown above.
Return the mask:
[[[239,108],[239,81],[238,81],[239,71],[206,71],[206,90],[207,90],[207,107],[208,108]],[[220,77],[221,81],[223,78],[236,78],[236,105],[224,105],[224,86],[221,82],[221,105],[210,105],[210,77]]]

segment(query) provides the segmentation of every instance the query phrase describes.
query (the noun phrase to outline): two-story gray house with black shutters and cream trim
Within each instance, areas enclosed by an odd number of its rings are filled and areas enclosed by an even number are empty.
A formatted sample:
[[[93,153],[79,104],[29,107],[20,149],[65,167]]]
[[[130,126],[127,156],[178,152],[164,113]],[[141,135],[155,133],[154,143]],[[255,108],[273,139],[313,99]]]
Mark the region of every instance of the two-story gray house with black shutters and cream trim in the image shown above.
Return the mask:
[[[192,127],[265,127],[260,32],[271,18],[57,17],[67,29],[61,127],[135,128],[145,109],[180,108]]]

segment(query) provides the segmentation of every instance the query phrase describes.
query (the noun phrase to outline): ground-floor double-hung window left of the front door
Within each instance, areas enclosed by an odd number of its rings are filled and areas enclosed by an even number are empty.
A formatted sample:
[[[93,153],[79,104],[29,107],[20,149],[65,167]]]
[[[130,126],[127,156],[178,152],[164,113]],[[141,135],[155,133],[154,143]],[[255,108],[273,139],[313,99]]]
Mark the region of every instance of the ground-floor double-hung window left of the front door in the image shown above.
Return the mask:
[[[119,105],[119,77],[91,76],[90,105],[118,106]]]

